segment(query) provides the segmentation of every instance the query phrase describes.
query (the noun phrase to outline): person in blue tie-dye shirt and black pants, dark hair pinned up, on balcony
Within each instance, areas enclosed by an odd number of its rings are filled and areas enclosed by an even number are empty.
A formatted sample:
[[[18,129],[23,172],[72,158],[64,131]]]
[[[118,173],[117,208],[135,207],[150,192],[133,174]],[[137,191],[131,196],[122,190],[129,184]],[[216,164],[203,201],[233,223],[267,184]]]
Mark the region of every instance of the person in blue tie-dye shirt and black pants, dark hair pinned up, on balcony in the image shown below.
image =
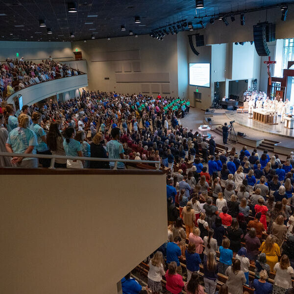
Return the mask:
[[[34,112],[32,114],[33,123],[29,128],[35,132],[38,140],[37,154],[51,155],[49,147],[47,146],[47,138],[44,129],[40,126],[42,122],[42,115],[40,112]],[[39,163],[43,168],[49,168],[51,160],[49,158],[39,158]]]

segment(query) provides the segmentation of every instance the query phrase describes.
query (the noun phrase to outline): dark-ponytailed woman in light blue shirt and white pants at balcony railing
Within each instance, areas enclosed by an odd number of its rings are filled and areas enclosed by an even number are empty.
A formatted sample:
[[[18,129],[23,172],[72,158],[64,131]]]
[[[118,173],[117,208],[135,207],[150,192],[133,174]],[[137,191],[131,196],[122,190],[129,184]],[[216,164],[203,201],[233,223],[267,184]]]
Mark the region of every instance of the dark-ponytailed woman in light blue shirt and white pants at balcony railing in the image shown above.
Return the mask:
[[[72,126],[67,127],[64,131],[63,147],[67,156],[83,157],[81,144],[74,140],[75,130]],[[82,169],[83,163],[81,160],[68,159],[66,163],[68,169]]]

